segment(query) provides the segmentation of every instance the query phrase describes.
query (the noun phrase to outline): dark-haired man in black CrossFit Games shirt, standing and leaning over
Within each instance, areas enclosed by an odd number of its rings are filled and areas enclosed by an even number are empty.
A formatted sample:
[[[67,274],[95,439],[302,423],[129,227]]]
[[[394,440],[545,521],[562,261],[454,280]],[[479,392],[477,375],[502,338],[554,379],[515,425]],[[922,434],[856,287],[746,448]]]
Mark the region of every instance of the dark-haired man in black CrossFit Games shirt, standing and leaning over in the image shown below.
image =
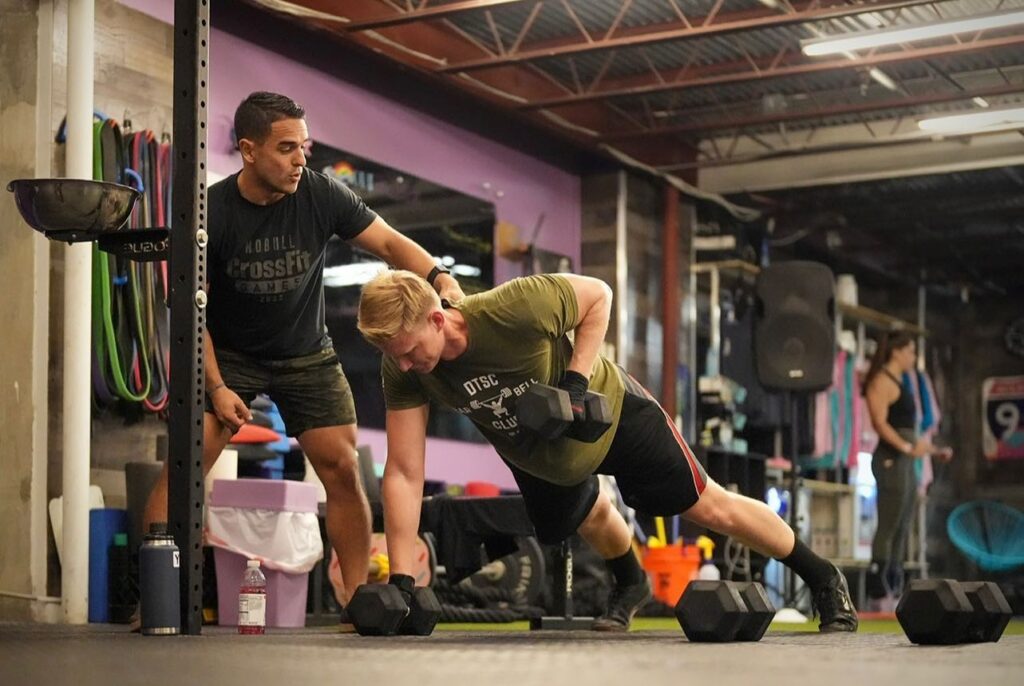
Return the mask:
[[[203,471],[269,393],[327,490],[327,530],[345,593],[367,581],[370,507],[355,452],[355,406],[324,316],[333,235],[429,281],[449,300],[459,284],[346,186],[306,168],[305,111],[256,92],[234,113],[242,170],[209,189]],[[200,208],[202,212],[202,207]],[[145,522],[167,518],[167,468]]]

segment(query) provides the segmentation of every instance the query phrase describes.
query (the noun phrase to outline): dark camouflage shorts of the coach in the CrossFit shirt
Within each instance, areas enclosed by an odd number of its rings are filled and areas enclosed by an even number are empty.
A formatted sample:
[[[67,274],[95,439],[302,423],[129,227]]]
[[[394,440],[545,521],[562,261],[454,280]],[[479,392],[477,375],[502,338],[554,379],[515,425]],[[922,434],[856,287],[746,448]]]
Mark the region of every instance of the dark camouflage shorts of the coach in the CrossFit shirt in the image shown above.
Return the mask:
[[[268,394],[289,436],[355,424],[352,389],[334,348],[289,359],[260,359],[231,350],[217,350],[216,355],[224,384],[247,405],[257,393]],[[209,395],[206,412],[213,413]]]

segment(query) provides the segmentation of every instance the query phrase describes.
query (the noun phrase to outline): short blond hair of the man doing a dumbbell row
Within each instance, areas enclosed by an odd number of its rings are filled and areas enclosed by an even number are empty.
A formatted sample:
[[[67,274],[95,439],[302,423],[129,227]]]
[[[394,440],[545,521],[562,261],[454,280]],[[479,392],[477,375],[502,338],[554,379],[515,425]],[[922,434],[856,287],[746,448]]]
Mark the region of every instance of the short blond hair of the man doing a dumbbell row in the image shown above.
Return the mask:
[[[440,299],[422,276],[404,269],[382,271],[362,287],[356,327],[381,347],[422,324]]]

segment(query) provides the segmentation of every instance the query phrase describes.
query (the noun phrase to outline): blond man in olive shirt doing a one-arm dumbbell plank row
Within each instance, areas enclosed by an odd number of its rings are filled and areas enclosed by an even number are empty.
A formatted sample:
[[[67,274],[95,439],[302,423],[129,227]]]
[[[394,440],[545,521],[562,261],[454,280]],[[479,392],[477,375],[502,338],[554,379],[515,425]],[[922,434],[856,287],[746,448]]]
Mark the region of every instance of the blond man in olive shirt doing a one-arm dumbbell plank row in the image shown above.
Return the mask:
[[[682,513],[779,559],[810,587],[822,632],[856,631],[842,572],[767,505],[709,478],[662,406],[598,354],[610,311],[607,285],[574,274],[516,278],[447,306],[409,271],[383,272],[367,284],[359,332],[384,353],[388,455],[382,496],[390,583],[411,593],[427,402],[434,399],[468,416],[495,446],[542,543],[579,531],[607,562],[614,586],[595,630],[627,631],[651,594],[629,526],[598,489],[596,475],[610,474],[627,505],[650,515]],[[538,383],[568,395],[574,421],[560,437],[542,438],[519,425],[518,398]],[[584,442],[572,437],[572,425],[586,421],[591,388],[607,397],[611,425]]]

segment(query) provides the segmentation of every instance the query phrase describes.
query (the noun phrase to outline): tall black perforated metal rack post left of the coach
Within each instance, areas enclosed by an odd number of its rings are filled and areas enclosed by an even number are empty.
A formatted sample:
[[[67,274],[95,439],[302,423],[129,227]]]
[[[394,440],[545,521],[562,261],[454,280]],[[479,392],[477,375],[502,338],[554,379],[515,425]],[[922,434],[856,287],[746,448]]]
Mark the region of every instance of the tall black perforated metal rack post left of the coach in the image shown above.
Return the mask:
[[[203,334],[209,0],[174,2],[168,525],[181,551],[181,633],[203,628]]]

